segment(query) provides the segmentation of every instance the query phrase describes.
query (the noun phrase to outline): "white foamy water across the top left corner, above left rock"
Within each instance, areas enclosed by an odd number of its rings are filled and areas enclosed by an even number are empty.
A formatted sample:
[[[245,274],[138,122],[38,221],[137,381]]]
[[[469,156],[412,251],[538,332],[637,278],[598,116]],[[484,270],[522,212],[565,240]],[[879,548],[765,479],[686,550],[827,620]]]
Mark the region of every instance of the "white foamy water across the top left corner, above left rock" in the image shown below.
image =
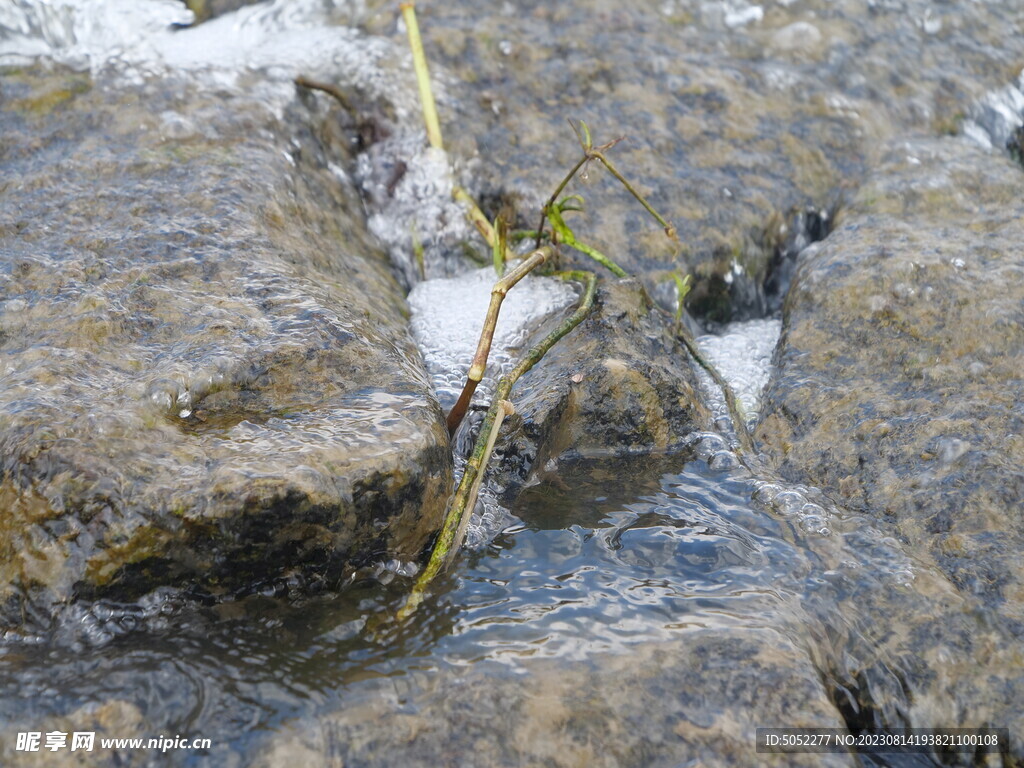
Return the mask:
[[[355,86],[371,98],[386,96],[399,117],[412,114],[417,102],[410,78],[382,63],[401,58],[395,46],[338,26],[361,5],[274,0],[180,29],[193,14],[177,0],[5,0],[0,63],[46,57],[131,82],[189,72],[197,83],[217,88],[259,71],[260,97],[279,109],[294,98],[293,79],[305,74]]]

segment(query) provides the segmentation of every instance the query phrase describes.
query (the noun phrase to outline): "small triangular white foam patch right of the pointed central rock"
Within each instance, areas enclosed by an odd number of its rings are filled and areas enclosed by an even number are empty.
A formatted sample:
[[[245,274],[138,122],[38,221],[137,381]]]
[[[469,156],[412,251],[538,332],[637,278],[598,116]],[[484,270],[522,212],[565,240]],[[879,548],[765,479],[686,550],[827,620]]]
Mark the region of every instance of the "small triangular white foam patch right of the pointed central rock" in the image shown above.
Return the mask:
[[[723,334],[696,340],[701,353],[732,387],[749,427],[757,423],[761,393],[771,377],[771,358],[781,330],[777,319],[746,321],[731,324]],[[716,420],[728,418],[722,391],[703,369],[697,371]]]

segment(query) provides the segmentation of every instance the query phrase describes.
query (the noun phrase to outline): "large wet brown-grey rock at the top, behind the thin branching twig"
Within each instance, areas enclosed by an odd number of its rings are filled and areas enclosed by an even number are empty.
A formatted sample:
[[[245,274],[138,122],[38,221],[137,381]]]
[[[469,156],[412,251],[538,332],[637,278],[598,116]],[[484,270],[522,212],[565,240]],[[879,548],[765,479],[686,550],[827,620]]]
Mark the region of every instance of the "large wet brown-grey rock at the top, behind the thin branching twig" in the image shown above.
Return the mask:
[[[379,7],[368,26],[387,31]],[[446,144],[488,215],[507,205],[537,225],[579,158],[566,119],[588,121],[597,143],[627,135],[609,157],[682,245],[596,166],[570,187],[589,211],[570,223],[652,295],[667,270],[693,272],[689,306],[715,322],[764,313],[794,217],[841,203],[880,140],[955,132],[1024,57],[1013,4],[590,0],[421,15],[437,78],[459,98],[442,103]]]

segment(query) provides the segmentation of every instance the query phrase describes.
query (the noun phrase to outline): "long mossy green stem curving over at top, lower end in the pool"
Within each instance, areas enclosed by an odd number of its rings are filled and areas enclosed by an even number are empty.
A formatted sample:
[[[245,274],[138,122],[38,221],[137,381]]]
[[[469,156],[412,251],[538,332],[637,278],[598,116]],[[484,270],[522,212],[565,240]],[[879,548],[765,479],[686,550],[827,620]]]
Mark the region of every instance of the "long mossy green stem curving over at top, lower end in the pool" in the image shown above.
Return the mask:
[[[487,459],[490,458],[490,451],[494,449],[495,440],[505,414],[508,413],[507,400],[512,387],[519,378],[536,366],[541,358],[553,347],[559,339],[568,334],[579,326],[590,313],[594,305],[594,292],[597,287],[597,275],[587,271],[559,272],[563,280],[581,281],[584,283],[583,298],[577,306],[575,311],[566,317],[554,331],[544,337],[536,346],[516,364],[508,374],[498,381],[495,388],[495,396],[490,400],[490,408],[483,418],[480,426],[480,433],[476,437],[473,453],[466,462],[466,469],[463,472],[459,488],[453,497],[452,505],[444,515],[444,522],[441,531],[434,544],[433,552],[430,554],[430,561],[426,568],[420,573],[413,591],[406,600],[404,605],[398,610],[398,620],[403,621],[413,614],[417,606],[423,602],[427,588],[436,575],[447,566],[462,546],[462,537],[465,532],[465,519],[473,512],[473,505],[476,501],[474,489],[479,488],[479,480],[486,469]],[[501,413],[501,415],[499,415]]]

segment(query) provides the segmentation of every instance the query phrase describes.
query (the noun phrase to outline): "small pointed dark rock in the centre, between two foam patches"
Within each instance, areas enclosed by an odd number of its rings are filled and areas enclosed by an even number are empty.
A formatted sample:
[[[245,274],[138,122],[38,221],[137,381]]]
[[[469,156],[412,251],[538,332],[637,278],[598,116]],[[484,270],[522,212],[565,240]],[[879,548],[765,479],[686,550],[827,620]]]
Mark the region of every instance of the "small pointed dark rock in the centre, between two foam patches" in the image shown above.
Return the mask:
[[[518,472],[568,459],[678,450],[711,415],[672,319],[635,279],[599,284],[591,314],[512,390],[502,452]],[[528,348],[550,330],[535,334]]]

